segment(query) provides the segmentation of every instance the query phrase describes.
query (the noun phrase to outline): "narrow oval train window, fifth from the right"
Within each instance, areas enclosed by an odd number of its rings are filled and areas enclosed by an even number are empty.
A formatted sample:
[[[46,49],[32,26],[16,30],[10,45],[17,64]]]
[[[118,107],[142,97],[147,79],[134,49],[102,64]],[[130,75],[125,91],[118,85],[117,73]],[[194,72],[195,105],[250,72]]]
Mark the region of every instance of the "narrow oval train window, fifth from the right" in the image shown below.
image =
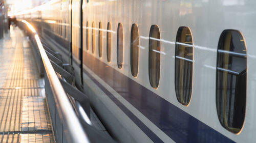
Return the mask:
[[[119,69],[123,66],[123,24],[118,23],[117,27],[117,66]]]

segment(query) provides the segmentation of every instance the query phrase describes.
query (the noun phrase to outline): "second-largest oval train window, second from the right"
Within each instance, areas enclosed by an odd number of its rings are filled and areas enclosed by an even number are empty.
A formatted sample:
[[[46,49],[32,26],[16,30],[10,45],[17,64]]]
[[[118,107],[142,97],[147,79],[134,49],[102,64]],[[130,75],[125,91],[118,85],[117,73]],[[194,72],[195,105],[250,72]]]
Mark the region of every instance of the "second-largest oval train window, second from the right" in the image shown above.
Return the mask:
[[[175,44],[175,92],[178,101],[187,106],[192,94],[193,39],[188,27],[179,27]]]

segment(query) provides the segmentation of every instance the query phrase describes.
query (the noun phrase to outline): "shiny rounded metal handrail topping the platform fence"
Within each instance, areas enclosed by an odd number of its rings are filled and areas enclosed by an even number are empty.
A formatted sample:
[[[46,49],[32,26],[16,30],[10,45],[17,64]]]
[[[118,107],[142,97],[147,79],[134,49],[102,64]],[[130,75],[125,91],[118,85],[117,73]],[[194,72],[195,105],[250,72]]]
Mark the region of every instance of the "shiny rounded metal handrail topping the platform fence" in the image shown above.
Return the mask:
[[[82,125],[79,122],[78,117],[76,116],[75,111],[73,110],[73,107],[67,97],[66,92],[62,88],[62,85],[51,65],[51,62],[46,54],[44,47],[42,46],[37,32],[35,31],[34,27],[26,20],[21,20],[21,22],[25,23],[34,35],[42,62],[44,63],[46,74],[51,85],[57,110],[59,112],[59,115],[61,115],[63,119],[63,124],[66,125],[66,128],[70,134],[71,142],[90,142],[86,132],[83,130]]]

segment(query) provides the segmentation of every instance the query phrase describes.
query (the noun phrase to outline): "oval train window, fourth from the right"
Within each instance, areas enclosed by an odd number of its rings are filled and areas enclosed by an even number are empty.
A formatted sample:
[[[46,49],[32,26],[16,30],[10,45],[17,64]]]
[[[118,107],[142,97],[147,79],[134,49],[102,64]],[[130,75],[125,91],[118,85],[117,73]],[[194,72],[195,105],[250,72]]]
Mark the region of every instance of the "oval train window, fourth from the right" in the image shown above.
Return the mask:
[[[131,30],[131,71],[134,77],[138,75],[139,68],[139,28],[137,24],[132,25]]]

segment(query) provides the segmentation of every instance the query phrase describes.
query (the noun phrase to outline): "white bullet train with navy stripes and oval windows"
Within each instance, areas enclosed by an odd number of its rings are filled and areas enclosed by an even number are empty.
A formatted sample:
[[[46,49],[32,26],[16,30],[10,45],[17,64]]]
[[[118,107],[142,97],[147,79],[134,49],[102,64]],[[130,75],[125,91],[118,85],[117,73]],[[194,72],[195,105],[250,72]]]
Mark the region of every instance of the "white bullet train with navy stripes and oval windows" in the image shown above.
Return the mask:
[[[117,142],[255,142],[254,0],[57,0],[14,13]]]

